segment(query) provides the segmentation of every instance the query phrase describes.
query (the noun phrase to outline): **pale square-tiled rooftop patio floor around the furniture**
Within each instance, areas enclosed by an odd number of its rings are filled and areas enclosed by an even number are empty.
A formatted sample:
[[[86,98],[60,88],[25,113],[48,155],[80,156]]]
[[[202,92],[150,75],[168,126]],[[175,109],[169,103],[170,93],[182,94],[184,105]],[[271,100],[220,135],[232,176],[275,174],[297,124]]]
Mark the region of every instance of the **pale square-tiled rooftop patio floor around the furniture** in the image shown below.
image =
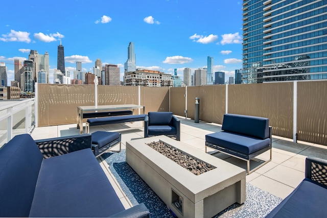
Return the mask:
[[[218,124],[201,121],[195,123],[192,119],[185,119],[185,117],[181,116],[178,116],[178,118],[181,120],[181,142],[198,149],[199,152],[204,152],[206,134],[221,131],[221,125]],[[126,148],[126,141],[144,137],[143,122],[103,125],[90,129],[90,132],[95,131],[117,131],[122,133],[122,149]],[[34,139],[75,134],[79,134],[76,124],[38,127],[31,133]],[[247,175],[246,182],[282,199],[286,198],[305,178],[305,158],[307,156],[327,159],[327,149],[319,144],[302,141],[294,143],[291,139],[273,136],[272,146],[272,161]],[[116,146],[112,150],[119,150],[119,148]],[[246,169],[245,161],[223,154],[216,156]],[[262,160],[269,159],[269,151],[258,156],[258,158]],[[108,163],[103,156],[100,156],[98,160],[124,206],[126,208],[131,207],[132,203],[110,172]]]

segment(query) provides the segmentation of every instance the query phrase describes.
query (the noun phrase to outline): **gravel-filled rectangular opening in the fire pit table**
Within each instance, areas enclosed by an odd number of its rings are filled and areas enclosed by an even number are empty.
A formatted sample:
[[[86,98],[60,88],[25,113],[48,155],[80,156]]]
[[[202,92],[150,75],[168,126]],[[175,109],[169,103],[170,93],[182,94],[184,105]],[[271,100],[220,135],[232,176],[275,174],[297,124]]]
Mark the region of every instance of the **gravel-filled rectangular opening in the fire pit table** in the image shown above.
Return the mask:
[[[194,175],[200,175],[216,168],[215,166],[185,154],[162,141],[153,141],[146,144],[160,154],[165,155],[169,159],[175,161],[185,169],[188,169]]]

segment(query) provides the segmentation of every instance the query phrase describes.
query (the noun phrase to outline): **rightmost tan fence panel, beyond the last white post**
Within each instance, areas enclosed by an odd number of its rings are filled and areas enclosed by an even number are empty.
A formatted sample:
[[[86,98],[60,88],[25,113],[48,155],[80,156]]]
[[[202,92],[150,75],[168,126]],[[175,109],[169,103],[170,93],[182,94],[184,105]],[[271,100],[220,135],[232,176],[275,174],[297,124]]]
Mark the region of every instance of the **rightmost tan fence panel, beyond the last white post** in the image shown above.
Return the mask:
[[[327,145],[327,81],[297,82],[297,139]]]

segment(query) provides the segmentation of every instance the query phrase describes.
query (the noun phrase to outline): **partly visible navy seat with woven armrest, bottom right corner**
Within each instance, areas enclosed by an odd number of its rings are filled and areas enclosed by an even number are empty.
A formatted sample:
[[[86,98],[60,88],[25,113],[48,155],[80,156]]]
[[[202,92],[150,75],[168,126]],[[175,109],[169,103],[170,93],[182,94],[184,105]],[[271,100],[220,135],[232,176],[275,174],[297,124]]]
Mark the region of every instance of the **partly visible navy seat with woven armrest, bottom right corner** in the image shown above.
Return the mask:
[[[327,161],[306,159],[306,178],[266,217],[326,217]]]

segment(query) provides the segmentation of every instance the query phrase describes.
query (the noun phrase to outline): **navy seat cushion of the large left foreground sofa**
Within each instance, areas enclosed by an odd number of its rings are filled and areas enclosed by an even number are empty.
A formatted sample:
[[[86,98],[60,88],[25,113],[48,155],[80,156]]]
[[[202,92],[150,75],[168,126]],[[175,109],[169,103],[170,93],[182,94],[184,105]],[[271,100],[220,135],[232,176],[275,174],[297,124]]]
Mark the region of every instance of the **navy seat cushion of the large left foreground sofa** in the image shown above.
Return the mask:
[[[124,210],[90,149],[44,159],[33,217],[105,217]]]

